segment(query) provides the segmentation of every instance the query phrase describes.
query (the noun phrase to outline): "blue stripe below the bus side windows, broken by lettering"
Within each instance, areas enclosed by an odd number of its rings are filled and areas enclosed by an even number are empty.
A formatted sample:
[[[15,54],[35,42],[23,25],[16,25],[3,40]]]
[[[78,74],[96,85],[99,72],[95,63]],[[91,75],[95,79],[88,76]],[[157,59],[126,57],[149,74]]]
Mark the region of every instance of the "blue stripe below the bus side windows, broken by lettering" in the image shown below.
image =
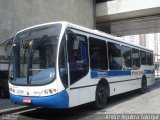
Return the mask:
[[[154,70],[144,70],[145,74],[154,74]],[[110,70],[110,71],[91,71],[91,78],[103,78],[113,76],[127,76],[131,75],[131,70]]]

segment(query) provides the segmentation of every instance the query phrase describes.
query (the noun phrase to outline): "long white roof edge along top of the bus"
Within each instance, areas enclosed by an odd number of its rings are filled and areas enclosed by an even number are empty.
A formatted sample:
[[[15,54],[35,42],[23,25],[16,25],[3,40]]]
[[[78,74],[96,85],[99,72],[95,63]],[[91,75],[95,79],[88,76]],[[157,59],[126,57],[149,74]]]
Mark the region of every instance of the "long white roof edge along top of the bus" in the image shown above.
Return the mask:
[[[84,32],[87,32],[87,33],[90,33],[90,34],[94,34],[94,35],[98,35],[100,37],[108,38],[108,39],[111,39],[113,41],[124,43],[124,44],[130,45],[130,46],[133,46],[133,47],[138,47],[140,49],[153,51],[151,49],[145,48],[145,47],[140,46],[140,45],[135,45],[135,44],[131,44],[129,42],[124,42],[124,41],[122,41],[122,38],[120,38],[120,37],[117,37],[117,36],[114,36],[114,35],[99,31],[99,30],[92,30],[92,29],[89,29],[89,28],[86,28],[86,27],[83,27],[83,26],[80,26],[80,25],[76,25],[76,24],[73,24],[73,23],[70,23],[70,22],[66,22],[66,21],[49,22],[49,23],[34,25],[34,26],[28,27],[26,29],[23,29],[23,30],[17,32],[17,34],[20,33],[20,32],[23,32],[25,30],[29,30],[29,29],[35,28],[35,27],[40,27],[40,26],[44,26],[44,25],[58,24],[58,23],[66,26],[66,27],[70,27],[70,28],[73,28],[73,29],[78,29],[78,30],[81,30],[81,31],[84,31]]]

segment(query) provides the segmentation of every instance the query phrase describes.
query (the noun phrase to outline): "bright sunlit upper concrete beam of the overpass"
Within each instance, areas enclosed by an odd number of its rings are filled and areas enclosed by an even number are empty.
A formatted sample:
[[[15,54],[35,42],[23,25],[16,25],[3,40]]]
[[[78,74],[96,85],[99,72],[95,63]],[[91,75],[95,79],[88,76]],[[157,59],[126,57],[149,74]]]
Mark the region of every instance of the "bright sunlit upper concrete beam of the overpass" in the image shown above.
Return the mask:
[[[159,0],[113,0],[96,5],[97,22],[160,14]]]

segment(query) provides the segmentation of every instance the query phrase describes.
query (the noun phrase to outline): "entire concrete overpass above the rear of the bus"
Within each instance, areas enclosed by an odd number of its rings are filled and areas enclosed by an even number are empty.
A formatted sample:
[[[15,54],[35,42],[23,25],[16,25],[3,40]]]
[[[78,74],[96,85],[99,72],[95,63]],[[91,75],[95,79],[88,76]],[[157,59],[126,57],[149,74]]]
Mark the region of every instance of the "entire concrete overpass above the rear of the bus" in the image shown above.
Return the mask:
[[[160,32],[160,0],[112,0],[96,4],[97,29],[117,36]]]

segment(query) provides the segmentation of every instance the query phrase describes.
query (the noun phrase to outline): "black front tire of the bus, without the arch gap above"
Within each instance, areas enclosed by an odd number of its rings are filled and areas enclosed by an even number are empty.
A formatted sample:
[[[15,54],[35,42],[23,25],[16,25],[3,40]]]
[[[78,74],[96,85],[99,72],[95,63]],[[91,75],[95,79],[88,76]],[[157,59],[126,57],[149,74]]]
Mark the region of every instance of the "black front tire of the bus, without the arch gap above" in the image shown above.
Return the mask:
[[[107,87],[99,84],[96,89],[96,98],[94,101],[95,109],[102,109],[106,106],[107,102]]]

